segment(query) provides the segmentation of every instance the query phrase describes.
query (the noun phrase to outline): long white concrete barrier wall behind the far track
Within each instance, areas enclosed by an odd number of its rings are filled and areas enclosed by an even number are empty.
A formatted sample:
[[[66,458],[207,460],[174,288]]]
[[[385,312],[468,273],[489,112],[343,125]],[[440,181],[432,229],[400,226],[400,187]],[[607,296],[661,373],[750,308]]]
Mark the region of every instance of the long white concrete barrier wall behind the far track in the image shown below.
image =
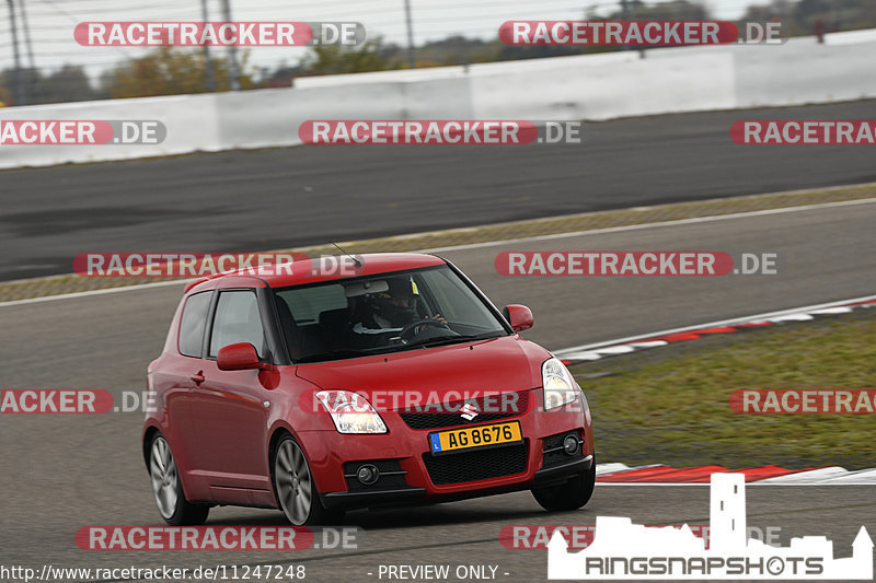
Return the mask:
[[[163,143],[0,144],[0,168],[296,145],[308,119],[590,119],[876,97],[876,31],[298,79],[295,89],[0,108],[0,120],[157,119]]]

